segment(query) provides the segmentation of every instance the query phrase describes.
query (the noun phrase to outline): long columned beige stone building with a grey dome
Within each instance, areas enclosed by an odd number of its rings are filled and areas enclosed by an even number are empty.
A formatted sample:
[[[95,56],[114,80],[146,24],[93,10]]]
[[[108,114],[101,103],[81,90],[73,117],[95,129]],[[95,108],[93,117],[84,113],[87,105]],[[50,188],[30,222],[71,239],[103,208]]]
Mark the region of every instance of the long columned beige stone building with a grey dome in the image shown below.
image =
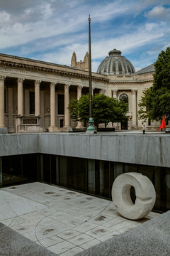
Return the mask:
[[[120,50],[108,53],[92,73],[92,91],[128,102],[128,122],[108,124],[115,129],[141,129],[137,118],[142,91],[152,86],[154,65],[135,72]],[[88,53],[71,66],[0,54],[0,129],[13,132],[68,132],[81,128],[69,118],[70,100],[89,93]],[[158,124],[145,123],[147,129]]]

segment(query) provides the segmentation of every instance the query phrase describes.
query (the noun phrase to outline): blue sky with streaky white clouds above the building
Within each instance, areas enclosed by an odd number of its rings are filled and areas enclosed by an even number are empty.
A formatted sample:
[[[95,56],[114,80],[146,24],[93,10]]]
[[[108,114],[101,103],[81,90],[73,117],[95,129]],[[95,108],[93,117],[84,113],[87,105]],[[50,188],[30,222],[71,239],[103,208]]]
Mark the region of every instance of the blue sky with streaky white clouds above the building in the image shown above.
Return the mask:
[[[116,48],[135,70],[170,46],[170,0],[0,0],[0,53],[71,65],[89,50],[96,72]]]

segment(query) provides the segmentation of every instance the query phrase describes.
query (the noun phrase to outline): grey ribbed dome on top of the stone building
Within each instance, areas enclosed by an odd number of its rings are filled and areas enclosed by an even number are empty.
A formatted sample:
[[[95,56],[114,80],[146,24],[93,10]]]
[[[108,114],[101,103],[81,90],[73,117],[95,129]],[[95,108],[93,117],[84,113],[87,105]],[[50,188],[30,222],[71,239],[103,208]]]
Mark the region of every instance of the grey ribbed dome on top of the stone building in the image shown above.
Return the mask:
[[[132,63],[121,55],[120,50],[113,49],[108,55],[98,66],[97,73],[103,75],[132,75],[135,73]]]

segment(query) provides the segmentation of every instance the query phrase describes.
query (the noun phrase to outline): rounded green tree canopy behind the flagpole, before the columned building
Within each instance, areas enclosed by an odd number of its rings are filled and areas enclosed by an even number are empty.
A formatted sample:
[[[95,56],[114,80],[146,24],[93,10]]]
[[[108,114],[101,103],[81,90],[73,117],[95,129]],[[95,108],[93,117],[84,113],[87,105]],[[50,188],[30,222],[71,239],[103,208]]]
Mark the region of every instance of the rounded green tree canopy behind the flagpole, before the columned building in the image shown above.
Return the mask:
[[[69,103],[70,117],[74,121],[87,124],[89,122],[89,95],[82,95],[79,100]],[[94,124],[108,124],[108,122],[123,122],[127,112],[125,102],[115,100],[106,95],[93,95],[92,108]]]

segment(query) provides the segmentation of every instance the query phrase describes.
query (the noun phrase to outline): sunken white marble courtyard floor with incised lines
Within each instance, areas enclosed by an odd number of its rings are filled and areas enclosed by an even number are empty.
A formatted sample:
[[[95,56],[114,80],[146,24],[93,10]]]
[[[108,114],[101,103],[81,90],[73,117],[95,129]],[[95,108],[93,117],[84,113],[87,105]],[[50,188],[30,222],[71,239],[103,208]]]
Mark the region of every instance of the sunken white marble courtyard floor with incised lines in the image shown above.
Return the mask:
[[[60,256],[72,256],[159,215],[121,217],[111,201],[45,183],[0,189],[0,221]]]

